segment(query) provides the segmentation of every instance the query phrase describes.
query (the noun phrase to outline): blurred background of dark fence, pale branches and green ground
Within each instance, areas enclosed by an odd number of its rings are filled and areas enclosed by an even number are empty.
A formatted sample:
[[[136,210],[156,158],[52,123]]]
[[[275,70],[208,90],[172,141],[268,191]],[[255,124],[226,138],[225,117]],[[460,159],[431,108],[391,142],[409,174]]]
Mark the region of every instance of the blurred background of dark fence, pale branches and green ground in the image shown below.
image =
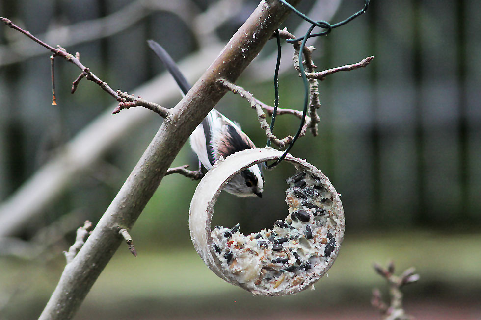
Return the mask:
[[[80,52],[113,89],[174,106],[174,81],[146,45],[169,51],[193,83],[255,9],[254,0],[2,0],[0,16],[50,45]],[[305,0],[313,19],[341,21],[363,1]],[[379,319],[370,306],[384,280],[372,265],[416,267],[404,306],[418,319],[481,319],[481,4],[478,0],[372,1],[368,12],[309,45],[318,70],[374,55],[365,69],[320,82],[319,136],[292,154],[326,174],[342,194],[346,236],[340,255],[308,290],[254,297],[217,278],[190,242],[188,208],[197,182],[165,177],[75,319]],[[297,36],[308,25],[281,25]],[[273,104],[275,43],[238,84]],[[280,106],[300,109],[302,81],[283,47]],[[0,27],[0,319],[36,319],[64,268],[62,251],[88,219],[97,222],[160,126],[115,101],[49,52]],[[217,108],[266,143],[256,114],[227,94]],[[298,119],[277,118],[294,134]],[[197,161],[188,144],[173,166]],[[262,199],[222,194],[214,224],[250,233],[285,217],[282,164],[266,174]]]

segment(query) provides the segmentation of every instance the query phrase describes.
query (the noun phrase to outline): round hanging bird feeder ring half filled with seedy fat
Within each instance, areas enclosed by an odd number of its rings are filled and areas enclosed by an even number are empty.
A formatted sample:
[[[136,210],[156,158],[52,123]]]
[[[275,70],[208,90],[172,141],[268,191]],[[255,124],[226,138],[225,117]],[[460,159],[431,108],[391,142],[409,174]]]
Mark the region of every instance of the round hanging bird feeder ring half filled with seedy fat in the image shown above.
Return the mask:
[[[285,219],[245,236],[237,225],[211,229],[215,202],[229,179],[282,154],[272,148],[248,149],[217,161],[190,203],[190,235],[202,260],[225,281],[255,295],[287,295],[311,287],[334,263],[344,237],[339,194],[321,171],[290,154],[285,161],[296,172],[286,180]]]

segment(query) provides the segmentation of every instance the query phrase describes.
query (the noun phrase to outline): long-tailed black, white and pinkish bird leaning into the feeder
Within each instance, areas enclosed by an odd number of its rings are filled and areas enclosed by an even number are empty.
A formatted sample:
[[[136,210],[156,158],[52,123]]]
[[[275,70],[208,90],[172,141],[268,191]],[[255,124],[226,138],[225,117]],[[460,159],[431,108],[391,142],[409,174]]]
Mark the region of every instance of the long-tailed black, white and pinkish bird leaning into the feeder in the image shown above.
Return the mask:
[[[167,51],[154,40],[149,47],[160,58],[185,96],[191,86]],[[190,135],[190,146],[199,158],[199,170],[207,171],[214,163],[236,152],[256,148],[252,140],[240,129],[240,125],[229,120],[216,109],[212,109]],[[260,197],[264,188],[262,165],[256,164],[234,175],[224,190],[238,197]]]

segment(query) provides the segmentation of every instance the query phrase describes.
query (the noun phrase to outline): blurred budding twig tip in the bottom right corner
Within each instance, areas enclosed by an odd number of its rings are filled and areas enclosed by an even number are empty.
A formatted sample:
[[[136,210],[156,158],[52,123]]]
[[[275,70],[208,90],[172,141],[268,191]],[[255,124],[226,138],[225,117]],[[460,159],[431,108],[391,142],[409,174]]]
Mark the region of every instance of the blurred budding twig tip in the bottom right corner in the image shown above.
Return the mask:
[[[373,290],[371,304],[378,309],[383,315],[383,320],[412,320],[412,316],[407,315],[402,307],[401,287],[409,283],[419,280],[419,274],[415,274],[414,268],[409,268],[402,272],[400,276],[394,275],[394,263],[388,263],[387,268],[382,268],[377,263],[374,264],[374,270],[382,276],[389,284],[389,305],[382,300],[379,289]]]

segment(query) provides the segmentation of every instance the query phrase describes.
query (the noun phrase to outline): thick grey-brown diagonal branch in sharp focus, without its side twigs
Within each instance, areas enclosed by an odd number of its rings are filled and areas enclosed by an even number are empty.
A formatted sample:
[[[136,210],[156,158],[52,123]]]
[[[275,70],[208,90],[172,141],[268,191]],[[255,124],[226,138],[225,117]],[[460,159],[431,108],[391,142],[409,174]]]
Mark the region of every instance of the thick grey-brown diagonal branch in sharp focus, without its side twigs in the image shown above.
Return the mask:
[[[298,2],[291,1],[294,5]],[[71,319],[74,316],[120,246],[116,226],[132,228],[192,131],[225,94],[226,90],[218,90],[218,79],[235,81],[288,13],[289,9],[278,1],[261,2],[187,96],[171,109],[172,117],[162,123],[84,246],[65,267],[40,319]]]

